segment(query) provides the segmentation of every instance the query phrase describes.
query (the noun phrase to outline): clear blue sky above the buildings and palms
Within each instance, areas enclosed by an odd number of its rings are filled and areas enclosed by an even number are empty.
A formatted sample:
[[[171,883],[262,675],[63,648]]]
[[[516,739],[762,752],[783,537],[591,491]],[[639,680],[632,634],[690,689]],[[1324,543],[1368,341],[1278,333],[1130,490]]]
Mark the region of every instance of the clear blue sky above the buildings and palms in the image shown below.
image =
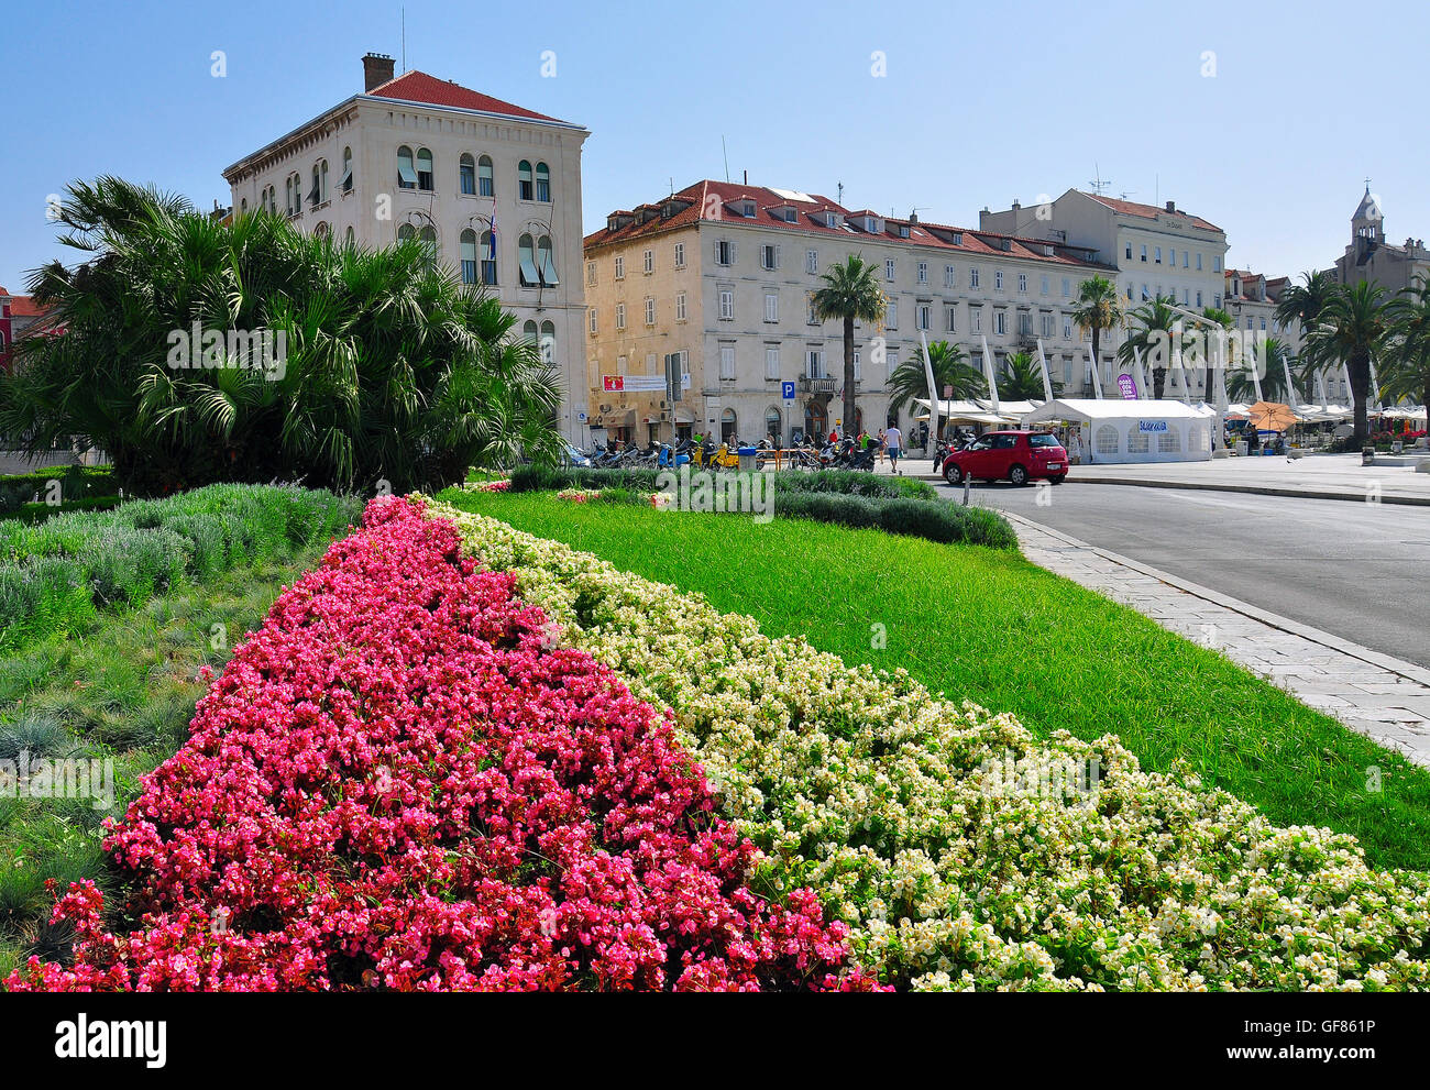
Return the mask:
[[[402,0],[11,4],[0,283],[63,256],[46,197],[114,173],[227,203],[220,170],[400,57]],[[1371,177],[1430,236],[1423,3],[406,3],[406,63],[591,129],[586,230],[701,177],[942,223],[1087,187],[1226,229],[1228,262],[1326,267]],[[227,76],[210,74],[223,50]],[[556,76],[542,77],[553,50]],[[871,74],[875,50],[887,76]],[[1204,76],[1204,54],[1216,74]],[[400,69],[399,69],[400,70]]]

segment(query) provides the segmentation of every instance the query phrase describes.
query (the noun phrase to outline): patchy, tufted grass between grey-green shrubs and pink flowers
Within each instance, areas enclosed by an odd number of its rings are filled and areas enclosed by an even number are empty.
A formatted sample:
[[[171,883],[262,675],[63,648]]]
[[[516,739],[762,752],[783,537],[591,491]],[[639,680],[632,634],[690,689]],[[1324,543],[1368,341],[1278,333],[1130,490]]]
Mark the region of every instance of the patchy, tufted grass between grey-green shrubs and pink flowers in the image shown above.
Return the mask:
[[[46,878],[64,888],[93,878],[110,890],[100,853],[106,817],[122,817],[139,777],[189,737],[204,665],[219,672],[262,624],[273,599],[326,552],[327,541],[285,549],[184,585],[122,614],[104,614],[84,635],[51,638],[0,657],[0,760],[70,757],[114,762],[116,804],[0,797],[0,978],[31,953],[54,957]],[[106,898],[109,900],[109,898]],[[113,901],[110,901],[113,907]]]

